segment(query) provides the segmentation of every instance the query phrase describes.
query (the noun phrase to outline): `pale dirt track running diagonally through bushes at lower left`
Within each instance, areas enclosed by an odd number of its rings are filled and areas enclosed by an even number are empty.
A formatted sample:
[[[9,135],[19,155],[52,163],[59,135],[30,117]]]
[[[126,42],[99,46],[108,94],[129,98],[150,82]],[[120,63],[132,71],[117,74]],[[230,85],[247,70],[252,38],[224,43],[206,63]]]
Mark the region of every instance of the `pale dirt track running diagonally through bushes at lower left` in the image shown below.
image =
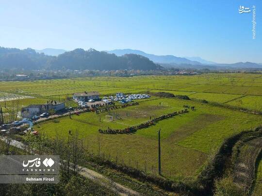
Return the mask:
[[[0,137],[0,139],[7,143],[6,138]],[[14,146],[16,148],[19,148],[19,149],[25,149],[26,148],[25,144],[23,144],[19,141],[13,140],[13,139],[10,141],[10,145]],[[86,167],[81,167],[81,166],[78,166],[78,167],[81,168],[80,174],[83,177],[91,179],[93,181],[96,181],[99,184],[101,184],[102,186],[110,188],[116,194],[118,194],[120,196],[138,196],[138,195],[140,195],[138,192],[136,192],[136,191],[134,191],[130,188],[127,188],[127,187],[125,187],[125,186],[123,186],[123,185],[121,185],[121,184],[119,184],[115,181],[112,181],[111,179],[99,174],[98,172],[96,172],[92,169],[88,169]]]

